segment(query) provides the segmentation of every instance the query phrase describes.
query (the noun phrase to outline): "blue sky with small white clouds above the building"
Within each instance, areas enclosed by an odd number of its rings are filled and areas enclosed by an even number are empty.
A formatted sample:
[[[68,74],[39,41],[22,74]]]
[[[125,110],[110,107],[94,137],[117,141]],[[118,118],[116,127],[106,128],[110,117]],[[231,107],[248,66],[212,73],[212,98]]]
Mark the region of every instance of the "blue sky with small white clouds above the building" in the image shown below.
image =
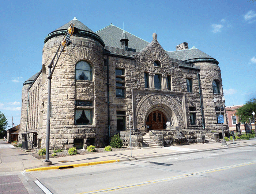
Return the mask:
[[[42,66],[48,33],[77,17],[94,32],[110,23],[166,51],[189,48],[217,59],[226,106],[256,98],[256,1],[3,1],[0,6],[0,111],[20,123],[23,82]]]

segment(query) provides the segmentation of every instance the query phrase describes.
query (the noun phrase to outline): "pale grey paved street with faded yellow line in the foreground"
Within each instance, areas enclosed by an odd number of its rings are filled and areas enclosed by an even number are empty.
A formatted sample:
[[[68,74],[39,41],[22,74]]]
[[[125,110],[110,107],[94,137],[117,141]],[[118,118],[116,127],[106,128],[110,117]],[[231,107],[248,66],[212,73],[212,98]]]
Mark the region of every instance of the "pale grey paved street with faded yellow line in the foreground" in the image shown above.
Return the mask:
[[[255,193],[256,146],[23,173],[53,194]]]

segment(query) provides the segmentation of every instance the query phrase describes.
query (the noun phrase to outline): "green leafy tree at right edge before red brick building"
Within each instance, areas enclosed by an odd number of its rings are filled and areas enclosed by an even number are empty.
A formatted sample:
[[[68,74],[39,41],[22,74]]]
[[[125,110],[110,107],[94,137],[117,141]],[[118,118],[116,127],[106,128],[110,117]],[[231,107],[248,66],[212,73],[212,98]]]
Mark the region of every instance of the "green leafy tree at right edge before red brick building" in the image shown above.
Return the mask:
[[[256,99],[252,98],[248,102],[244,104],[244,106],[237,109],[236,114],[238,116],[238,120],[241,123],[249,123],[250,119],[253,120],[252,112],[256,112]]]

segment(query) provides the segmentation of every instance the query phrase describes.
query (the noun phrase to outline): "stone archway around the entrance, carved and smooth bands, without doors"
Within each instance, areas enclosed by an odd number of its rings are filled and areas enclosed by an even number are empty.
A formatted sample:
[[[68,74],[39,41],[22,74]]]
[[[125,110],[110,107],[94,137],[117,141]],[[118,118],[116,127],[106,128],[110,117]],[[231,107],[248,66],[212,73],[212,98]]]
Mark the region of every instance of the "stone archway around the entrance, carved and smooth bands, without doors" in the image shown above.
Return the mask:
[[[181,104],[176,99],[162,94],[149,94],[139,102],[136,108],[136,128],[144,126],[147,116],[156,109],[165,112],[168,119],[172,119],[174,126],[185,124],[184,112]]]

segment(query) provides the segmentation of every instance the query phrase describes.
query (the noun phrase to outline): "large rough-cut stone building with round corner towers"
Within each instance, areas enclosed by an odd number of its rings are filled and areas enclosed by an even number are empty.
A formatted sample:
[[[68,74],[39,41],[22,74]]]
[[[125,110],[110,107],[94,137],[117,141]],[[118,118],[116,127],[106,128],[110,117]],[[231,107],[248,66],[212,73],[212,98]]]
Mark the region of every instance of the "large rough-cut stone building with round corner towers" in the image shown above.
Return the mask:
[[[216,59],[185,42],[165,51],[156,33],[149,43],[113,24],[93,32],[71,21],[75,34],[51,82],[50,149],[102,147],[117,133],[128,145],[129,126],[136,147],[145,146],[148,131],[160,146],[177,134],[183,143],[203,143],[207,132],[221,132]],[[41,70],[23,83],[19,141],[33,134],[38,148],[46,143],[48,65],[70,23],[45,37]]]

